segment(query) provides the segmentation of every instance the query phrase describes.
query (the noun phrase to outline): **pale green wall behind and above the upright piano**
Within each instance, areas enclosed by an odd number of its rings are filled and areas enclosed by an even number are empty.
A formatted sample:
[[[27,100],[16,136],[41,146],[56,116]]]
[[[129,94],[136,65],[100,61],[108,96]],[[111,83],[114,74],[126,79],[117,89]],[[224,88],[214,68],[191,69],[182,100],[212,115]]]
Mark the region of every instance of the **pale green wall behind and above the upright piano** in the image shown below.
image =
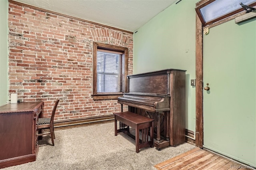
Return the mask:
[[[134,34],[134,73],[165,68],[186,71],[186,128],[195,131],[197,0],[172,4]]]

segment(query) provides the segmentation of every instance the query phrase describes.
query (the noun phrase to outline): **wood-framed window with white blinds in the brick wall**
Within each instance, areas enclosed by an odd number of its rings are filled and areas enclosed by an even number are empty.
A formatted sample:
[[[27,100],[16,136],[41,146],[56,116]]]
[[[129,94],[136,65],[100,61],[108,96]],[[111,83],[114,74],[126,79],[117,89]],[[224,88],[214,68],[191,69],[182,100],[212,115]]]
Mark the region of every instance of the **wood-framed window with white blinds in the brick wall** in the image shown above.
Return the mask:
[[[117,99],[126,91],[128,48],[94,42],[93,99]]]

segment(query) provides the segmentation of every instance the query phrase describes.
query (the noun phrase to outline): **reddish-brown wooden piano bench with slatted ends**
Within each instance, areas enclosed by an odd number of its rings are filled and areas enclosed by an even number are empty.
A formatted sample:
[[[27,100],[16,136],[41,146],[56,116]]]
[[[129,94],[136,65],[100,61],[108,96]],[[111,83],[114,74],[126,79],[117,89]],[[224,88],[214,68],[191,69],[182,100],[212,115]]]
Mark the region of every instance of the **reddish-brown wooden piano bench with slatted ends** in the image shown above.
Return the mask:
[[[132,112],[120,112],[114,113],[115,116],[115,136],[118,132],[124,132],[128,136],[135,139],[136,152],[140,152],[140,148],[154,147],[154,119],[144,117]],[[117,129],[117,121],[120,122],[120,128]],[[126,128],[125,128],[126,127]],[[135,129],[135,136],[130,134],[129,127]],[[148,128],[150,128],[150,134],[148,134]],[[142,131],[142,140],[139,138],[139,131]],[[150,140],[148,140],[150,135]]]

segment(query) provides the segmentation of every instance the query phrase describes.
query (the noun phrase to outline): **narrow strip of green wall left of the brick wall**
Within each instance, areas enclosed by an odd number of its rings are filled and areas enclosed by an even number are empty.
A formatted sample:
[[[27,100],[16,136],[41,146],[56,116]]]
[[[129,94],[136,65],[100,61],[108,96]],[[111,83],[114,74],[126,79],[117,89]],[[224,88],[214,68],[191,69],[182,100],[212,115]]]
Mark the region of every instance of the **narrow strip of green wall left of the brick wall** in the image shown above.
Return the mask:
[[[8,101],[8,1],[0,0],[0,106]]]

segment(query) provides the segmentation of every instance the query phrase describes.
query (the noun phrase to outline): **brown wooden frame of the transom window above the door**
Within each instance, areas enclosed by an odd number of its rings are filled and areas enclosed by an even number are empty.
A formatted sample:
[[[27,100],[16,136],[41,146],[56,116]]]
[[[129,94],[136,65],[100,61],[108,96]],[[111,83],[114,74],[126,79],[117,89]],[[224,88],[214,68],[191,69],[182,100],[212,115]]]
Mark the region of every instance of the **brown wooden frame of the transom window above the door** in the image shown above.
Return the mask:
[[[234,18],[236,18],[238,16],[241,16],[241,15],[246,13],[246,11],[241,7],[238,10],[235,10],[233,12],[230,12],[230,13],[226,14],[226,15],[220,16],[220,17],[218,17],[214,20],[205,22],[204,18],[202,16],[202,13],[200,12],[200,9],[203,8],[204,6],[207,6],[208,4],[210,4],[214,1],[215,0],[201,0],[198,3],[196,3],[196,8],[195,8],[196,14],[198,15],[200,21],[202,22],[203,27],[206,27],[206,26],[213,27],[213,26],[222,24],[224,22],[233,20]],[[250,6],[252,6],[252,7],[256,6],[256,2],[250,4]]]

